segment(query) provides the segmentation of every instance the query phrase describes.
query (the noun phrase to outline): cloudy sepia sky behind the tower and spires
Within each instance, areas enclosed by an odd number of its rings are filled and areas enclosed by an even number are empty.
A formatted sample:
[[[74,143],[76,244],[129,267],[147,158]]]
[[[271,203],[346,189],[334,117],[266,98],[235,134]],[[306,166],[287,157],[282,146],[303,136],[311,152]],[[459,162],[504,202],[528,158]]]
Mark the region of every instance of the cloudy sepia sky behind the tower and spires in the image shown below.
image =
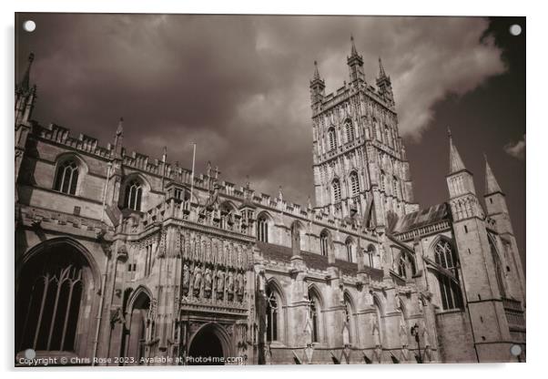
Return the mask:
[[[21,24],[36,21],[26,33]],[[511,36],[512,24],[523,26]],[[416,199],[447,199],[446,128],[482,194],[485,152],[524,252],[524,18],[257,15],[18,15],[16,74],[36,54],[36,120],[191,165],[306,204],[312,195],[309,80],[348,80],[350,35],[371,84],[391,76]]]

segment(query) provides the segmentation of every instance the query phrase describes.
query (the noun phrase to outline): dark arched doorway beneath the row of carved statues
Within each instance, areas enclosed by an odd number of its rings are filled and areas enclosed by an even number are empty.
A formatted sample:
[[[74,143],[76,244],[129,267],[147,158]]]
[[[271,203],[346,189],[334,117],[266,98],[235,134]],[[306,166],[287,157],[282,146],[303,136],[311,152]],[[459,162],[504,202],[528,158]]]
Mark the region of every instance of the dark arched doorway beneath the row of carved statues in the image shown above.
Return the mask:
[[[227,356],[227,335],[217,323],[208,323],[190,341],[187,364],[223,365]]]

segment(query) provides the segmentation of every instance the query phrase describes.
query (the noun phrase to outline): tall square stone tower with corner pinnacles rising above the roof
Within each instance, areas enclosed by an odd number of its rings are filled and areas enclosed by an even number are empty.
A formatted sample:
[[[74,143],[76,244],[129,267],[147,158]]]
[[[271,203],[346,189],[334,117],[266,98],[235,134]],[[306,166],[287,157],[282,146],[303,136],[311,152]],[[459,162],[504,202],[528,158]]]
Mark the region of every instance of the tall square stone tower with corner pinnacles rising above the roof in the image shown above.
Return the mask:
[[[417,210],[391,78],[379,59],[377,87],[366,81],[353,37],[347,64],[350,81],[327,96],[316,63],[310,81],[316,208],[390,228]]]

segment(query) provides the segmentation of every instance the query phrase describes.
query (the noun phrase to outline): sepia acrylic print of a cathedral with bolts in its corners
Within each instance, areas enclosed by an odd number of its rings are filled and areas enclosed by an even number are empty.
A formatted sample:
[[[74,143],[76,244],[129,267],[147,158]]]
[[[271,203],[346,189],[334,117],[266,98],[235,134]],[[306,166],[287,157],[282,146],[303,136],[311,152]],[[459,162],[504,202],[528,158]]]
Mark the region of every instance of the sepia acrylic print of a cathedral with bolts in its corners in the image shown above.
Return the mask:
[[[525,362],[525,35],[15,14],[15,367]]]

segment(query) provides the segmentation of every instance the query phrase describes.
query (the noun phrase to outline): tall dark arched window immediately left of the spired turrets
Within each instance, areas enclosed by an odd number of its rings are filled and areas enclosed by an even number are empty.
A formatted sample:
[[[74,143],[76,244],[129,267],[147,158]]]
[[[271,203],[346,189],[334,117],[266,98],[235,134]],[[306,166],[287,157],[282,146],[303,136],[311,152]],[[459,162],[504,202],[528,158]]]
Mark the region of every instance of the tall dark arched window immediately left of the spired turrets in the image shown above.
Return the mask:
[[[441,306],[444,310],[462,308],[462,293],[459,286],[457,256],[449,241],[441,240],[434,247],[434,259],[445,272],[438,271]],[[449,271],[450,273],[446,273]]]

